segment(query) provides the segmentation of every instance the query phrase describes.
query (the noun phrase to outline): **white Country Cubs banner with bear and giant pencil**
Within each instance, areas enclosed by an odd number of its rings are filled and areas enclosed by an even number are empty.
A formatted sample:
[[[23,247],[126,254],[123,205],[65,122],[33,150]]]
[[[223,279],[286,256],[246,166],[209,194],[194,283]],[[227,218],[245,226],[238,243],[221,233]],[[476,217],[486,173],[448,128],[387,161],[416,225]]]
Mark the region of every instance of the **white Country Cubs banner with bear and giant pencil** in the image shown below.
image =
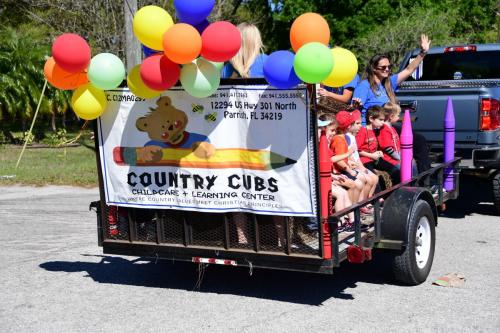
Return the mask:
[[[107,92],[98,120],[106,203],[202,212],[315,216],[307,90],[172,88],[144,100]]]

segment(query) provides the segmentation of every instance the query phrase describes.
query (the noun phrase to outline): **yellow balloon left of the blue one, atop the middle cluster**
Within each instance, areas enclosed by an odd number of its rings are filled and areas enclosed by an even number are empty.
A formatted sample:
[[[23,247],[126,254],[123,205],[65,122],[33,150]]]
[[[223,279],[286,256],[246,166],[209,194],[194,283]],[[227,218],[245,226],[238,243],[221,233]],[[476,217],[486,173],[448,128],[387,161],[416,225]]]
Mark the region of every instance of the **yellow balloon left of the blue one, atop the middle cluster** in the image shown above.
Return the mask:
[[[134,34],[153,50],[163,50],[163,34],[173,25],[170,14],[158,6],[142,7],[134,15]]]

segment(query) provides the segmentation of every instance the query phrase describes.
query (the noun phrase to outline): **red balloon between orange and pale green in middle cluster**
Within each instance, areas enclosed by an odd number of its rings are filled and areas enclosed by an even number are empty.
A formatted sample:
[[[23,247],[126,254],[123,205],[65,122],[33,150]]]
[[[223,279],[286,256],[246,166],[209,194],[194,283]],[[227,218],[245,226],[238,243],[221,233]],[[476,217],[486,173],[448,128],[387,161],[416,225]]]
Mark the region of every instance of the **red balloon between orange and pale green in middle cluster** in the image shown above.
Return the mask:
[[[141,64],[141,79],[153,90],[167,90],[172,87],[181,74],[181,68],[162,54],[147,57]]]

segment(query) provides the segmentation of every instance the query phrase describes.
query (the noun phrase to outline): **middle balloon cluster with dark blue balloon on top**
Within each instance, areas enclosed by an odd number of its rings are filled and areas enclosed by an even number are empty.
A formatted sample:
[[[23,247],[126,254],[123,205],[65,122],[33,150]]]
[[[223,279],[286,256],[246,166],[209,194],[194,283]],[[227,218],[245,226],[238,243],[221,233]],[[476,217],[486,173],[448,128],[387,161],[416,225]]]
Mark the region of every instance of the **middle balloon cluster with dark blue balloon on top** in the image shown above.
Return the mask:
[[[127,77],[130,91],[152,98],[180,79],[190,95],[212,95],[220,83],[221,62],[241,47],[239,30],[231,23],[209,23],[215,0],[174,0],[179,23],[157,6],[145,6],[134,16],[134,33],[146,58]]]

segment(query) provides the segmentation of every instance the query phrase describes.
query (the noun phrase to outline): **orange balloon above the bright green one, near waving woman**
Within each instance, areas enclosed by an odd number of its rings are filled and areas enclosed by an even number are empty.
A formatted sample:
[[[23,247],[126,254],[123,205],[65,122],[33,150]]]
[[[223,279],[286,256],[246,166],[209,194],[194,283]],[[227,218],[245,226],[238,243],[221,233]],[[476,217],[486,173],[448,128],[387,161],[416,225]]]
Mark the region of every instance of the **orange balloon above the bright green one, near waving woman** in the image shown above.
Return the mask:
[[[328,46],[329,41],[330,27],[323,16],[305,13],[293,21],[290,29],[290,43],[295,52],[307,43],[318,42]]]

